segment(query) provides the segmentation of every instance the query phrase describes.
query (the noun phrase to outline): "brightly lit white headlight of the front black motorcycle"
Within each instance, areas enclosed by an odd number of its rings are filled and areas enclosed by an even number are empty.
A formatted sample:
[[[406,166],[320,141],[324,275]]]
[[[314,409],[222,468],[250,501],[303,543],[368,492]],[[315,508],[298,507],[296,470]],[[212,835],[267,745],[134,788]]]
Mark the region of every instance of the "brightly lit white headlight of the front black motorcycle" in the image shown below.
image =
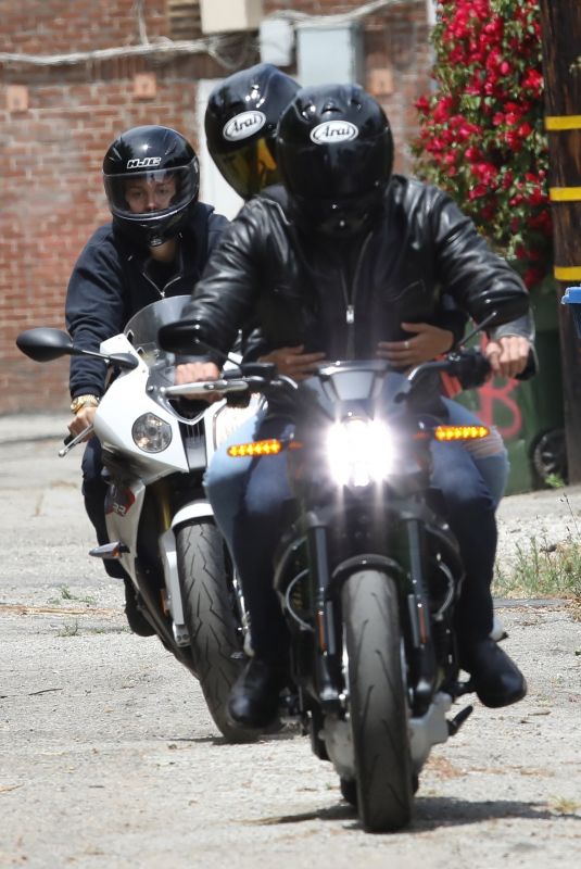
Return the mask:
[[[345,419],[331,426],[327,440],[331,475],[342,486],[369,486],[394,468],[393,434],[372,419]]]

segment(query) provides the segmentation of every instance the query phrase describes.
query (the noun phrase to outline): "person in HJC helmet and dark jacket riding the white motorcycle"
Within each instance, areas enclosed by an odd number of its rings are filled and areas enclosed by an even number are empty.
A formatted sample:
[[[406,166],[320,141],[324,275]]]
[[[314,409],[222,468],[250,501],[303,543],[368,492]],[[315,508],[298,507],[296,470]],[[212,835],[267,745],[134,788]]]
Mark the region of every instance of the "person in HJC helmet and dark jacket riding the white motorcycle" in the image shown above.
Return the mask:
[[[92,351],[122,332],[146,305],[166,295],[189,294],[228,223],[199,202],[195,152],[168,127],[132,127],[118,136],[105,153],[103,181],[113,221],[97,229],[80,253],[65,303],[66,328],[75,344]],[[105,391],[105,374],[100,360],[72,357],[74,417],[68,429],[73,436],[92,423]],[[97,438],[88,437],[83,495],[97,539],[106,543],[101,446]],[[105,561],[104,566],[110,576],[125,580],[125,612],[131,630],[152,634],[122,566],[114,561]]]

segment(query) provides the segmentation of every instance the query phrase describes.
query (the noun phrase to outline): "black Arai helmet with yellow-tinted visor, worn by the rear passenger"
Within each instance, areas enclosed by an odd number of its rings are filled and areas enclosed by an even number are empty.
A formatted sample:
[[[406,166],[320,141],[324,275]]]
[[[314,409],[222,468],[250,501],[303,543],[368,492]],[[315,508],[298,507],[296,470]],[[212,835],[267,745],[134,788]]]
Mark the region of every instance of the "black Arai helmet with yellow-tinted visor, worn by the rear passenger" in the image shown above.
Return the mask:
[[[299,85],[276,66],[260,63],[226,78],[205,111],[207,149],[243,199],[280,180],[275,155],[278,118]]]

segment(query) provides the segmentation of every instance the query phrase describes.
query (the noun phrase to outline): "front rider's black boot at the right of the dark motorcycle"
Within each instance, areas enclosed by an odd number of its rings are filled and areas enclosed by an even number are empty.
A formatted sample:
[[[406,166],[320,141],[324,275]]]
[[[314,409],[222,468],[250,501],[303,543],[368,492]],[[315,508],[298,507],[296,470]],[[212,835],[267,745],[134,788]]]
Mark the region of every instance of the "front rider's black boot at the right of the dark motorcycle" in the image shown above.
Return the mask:
[[[509,706],[527,693],[527,681],[517,665],[490,637],[465,643],[460,648],[460,666],[470,673],[484,706]]]

